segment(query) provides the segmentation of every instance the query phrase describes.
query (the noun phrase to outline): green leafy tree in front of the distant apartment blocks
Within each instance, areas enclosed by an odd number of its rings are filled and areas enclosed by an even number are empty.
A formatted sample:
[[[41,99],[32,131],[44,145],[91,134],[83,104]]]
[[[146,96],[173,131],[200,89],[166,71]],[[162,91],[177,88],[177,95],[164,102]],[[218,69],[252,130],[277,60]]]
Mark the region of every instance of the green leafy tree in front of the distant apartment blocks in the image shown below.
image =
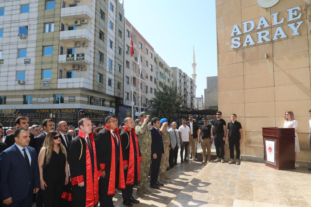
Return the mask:
[[[163,91],[156,91],[155,98],[151,99],[148,111],[152,117],[170,118],[174,117],[177,111],[183,110],[183,98],[178,95],[176,87],[164,86]]]

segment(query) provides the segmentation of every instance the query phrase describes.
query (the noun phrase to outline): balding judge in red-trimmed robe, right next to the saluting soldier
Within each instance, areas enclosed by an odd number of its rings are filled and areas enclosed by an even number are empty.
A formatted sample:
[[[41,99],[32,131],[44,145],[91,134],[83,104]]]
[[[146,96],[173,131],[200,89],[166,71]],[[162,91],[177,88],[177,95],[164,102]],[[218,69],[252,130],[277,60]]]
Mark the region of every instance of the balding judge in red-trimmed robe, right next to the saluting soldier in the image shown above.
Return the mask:
[[[135,126],[132,118],[128,118],[127,122],[133,122],[133,126]],[[126,123],[125,125],[131,124]],[[133,186],[137,186],[140,182],[140,162],[142,161],[142,156],[140,154],[140,148],[138,145],[137,136],[135,133],[135,129],[124,126],[124,130],[120,135],[121,144],[123,150],[123,159],[126,159],[128,168],[124,170],[124,178],[125,178],[125,189],[122,190],[123,204],[127,205],[127,201],[131,203],[139,203],[138,200],[133,198]]]

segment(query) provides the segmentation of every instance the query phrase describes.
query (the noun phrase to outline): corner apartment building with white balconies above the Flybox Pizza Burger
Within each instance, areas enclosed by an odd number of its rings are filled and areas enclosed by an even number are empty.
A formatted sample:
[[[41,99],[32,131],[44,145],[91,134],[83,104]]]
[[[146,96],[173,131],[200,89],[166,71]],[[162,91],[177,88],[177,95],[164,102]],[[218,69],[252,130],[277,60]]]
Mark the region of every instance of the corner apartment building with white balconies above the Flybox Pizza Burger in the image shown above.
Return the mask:
[[[124,9],[118,0],[0,3],[0,110],[117,113]]]

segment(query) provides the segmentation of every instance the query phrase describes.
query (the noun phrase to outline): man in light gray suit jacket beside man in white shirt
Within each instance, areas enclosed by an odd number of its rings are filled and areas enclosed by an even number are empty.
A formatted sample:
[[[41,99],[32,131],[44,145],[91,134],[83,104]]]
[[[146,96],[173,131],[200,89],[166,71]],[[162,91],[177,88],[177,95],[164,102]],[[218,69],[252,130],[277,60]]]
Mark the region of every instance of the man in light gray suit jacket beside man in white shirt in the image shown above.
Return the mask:
[[[178,129],[176,129],[177,123],[172,122],[171,126],[172,128],[169,129],[169,140],[170,140],[169,147],[171,148],[171,150],[169,151],[169,168],[170,169],[177,165],[178,149],[180,145]]]

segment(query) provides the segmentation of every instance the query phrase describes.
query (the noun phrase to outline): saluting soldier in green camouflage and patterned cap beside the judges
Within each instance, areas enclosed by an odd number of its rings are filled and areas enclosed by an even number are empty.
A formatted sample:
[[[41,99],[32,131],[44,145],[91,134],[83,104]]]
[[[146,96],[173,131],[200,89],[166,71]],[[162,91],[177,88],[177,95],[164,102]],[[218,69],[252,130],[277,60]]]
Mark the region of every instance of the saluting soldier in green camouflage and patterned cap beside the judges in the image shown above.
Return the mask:
[[[140,163],[140,183],[137,186],[136,192],[140,197],[144,197],[144,193],[151,193],[151,191],[146,188],[147,183],[149,183],[148,176],[151,162],[151,132],[147,127],[149,116],[150,115],[147,115],[146,112],[140,113],[140,123],[135,126],[142,155],[142,162]]]

